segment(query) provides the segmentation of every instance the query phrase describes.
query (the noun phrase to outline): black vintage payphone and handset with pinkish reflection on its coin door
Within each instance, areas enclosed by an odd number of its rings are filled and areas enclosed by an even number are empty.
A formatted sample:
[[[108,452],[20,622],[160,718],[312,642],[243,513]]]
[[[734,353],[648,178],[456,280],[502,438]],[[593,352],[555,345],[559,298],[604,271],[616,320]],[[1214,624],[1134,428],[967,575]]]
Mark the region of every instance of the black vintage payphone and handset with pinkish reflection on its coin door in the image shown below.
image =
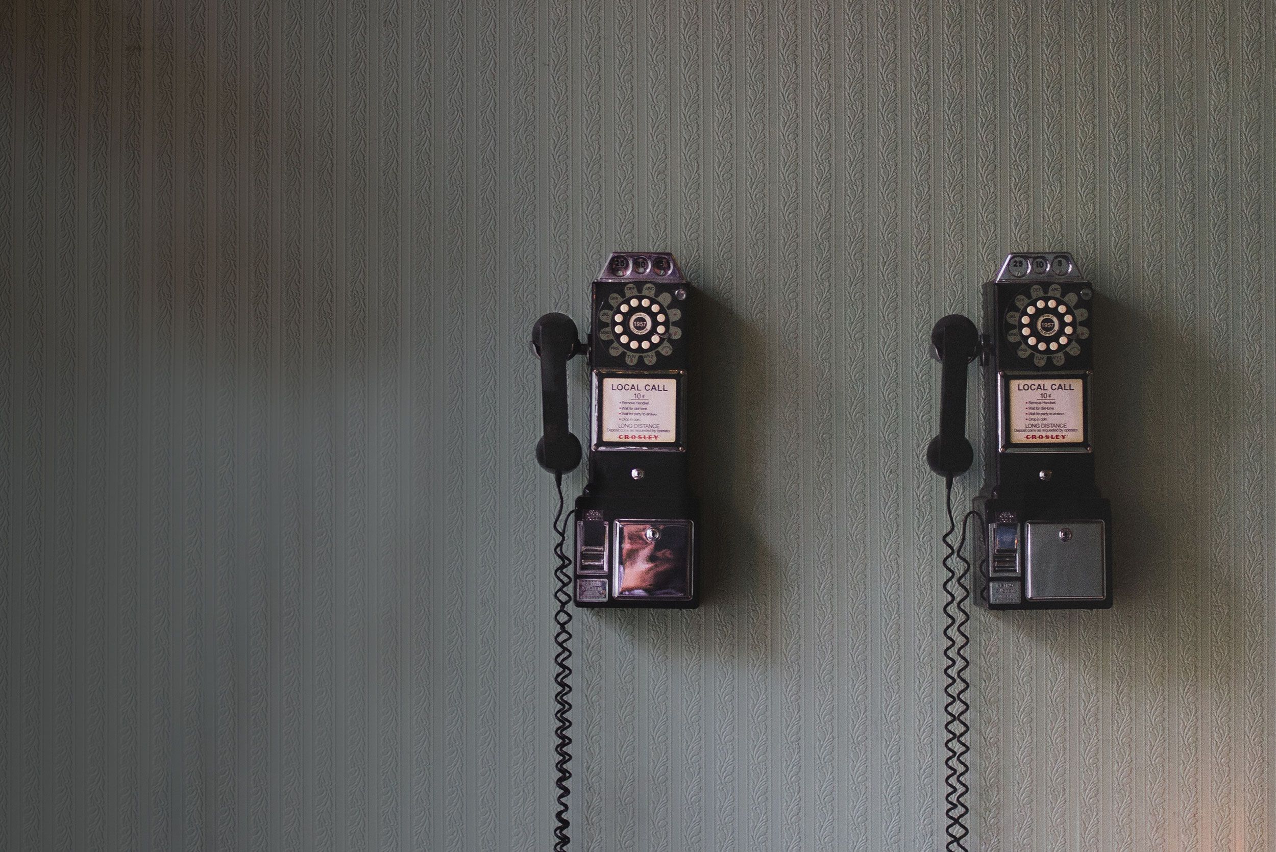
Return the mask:
[[[698,603],[698,511],[686,459],[690,290],[671,254],[614,253],[591,286],[587,344],[563,314],[546,314],[532,329],[545,422],[536,459],[556,474],[581,459],[567,427],[567,361],[579,351],[590,361],[588,481],[575,501],[577,606]]]

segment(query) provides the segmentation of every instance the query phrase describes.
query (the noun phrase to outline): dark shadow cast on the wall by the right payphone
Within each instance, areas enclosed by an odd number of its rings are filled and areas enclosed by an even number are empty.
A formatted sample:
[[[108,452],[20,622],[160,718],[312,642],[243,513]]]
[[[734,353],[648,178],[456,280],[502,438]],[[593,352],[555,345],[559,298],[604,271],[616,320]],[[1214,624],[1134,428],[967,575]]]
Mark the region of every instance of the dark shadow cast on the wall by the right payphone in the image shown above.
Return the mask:
[[[1243,400],[1235,398],[1226,355],[1211,351],[1196,324],[1175,327],[1155,304],[1114,298],[1104,288],[1106,279],[1101,270],[1094,274],[1101,320],[1095,339],[1092,417],[1096,478],[1113,510],[1113,608],[991,616],[1060,659],[1071,658],[1072,630],[1044,630],[1042,617],[1079,624],[1081,642],[1097,647],[1104,635],[1128,635],[1136,613],[1152,621],[1164,619],[1184,594],[1203,603],[1216,593],[1208,579],[1212,575],[1233,583],[1228,556],[1215,551],[1208,532],[1229,522],[1216,518],[1215,488],[1203,478],[1219,466],[1202,458],[1213,446],[1222,448],[1228,458],[1238,458],[1240,452],[1239,436],[1228,423]],[[1168,283],[1157,283],[1145,281],[1141,290],[1169,292]],[[1211,415],[1194,422],[1197,411]],[[1219,420],[1211,422],[1210,416]],[[988,619],[989,613],[972,616]],[[1231,635],[1240,617],[1235,607],[1219,607],[1210,615],[1208,631]],[[1092,629],[1113,622],[1124,628],[1114,634]],[[1113,654],[1128,653],[1113,642]],[[1068,665],[1077,667],[1082,682],[1102,680],[1102,654],[1082,653]],[[1092,665],[1099,668],[1091,670]]]

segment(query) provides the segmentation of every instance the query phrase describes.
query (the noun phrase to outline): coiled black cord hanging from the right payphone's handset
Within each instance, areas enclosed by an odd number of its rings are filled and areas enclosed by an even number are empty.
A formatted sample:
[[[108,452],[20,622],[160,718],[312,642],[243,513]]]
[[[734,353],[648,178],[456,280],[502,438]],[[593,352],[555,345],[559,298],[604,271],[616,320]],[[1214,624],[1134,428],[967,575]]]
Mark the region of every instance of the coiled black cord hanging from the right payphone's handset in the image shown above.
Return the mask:
[[[970,560],[962,555],[966,547],[966,523],[981,515],[974,509],[967,511],[961,522],[961,537],[954,542],[957,534],[957,518],[953,515],[953,480],[947,477],[944,494],[944,506],[948,513],[948,529],[944,531],[943,542],[948,551],[943,557],[944,566],[944,746],[948,756],[944,759],[944,786],[947,793],[944,814],[948,816],[948,843],[947,852],[966,852],[966,837],[970,829],[966,828],[966,816],[970,807],[966,805],[966,796],[970,793],[970,784],[966,775],[970,765],[966,755],[970,754],[970,745],[966,741],[970,733],[970,724],[966,714],[970,712],[970,701],[966,693],[970,690],[970,681],[966,671],[970,668],[970,658],[966,650],[970,648],[970,635],[966,625],[970,624]],[[954,561],[956,560],[956,561]],[[957,562],[961,562],[958,566]]]

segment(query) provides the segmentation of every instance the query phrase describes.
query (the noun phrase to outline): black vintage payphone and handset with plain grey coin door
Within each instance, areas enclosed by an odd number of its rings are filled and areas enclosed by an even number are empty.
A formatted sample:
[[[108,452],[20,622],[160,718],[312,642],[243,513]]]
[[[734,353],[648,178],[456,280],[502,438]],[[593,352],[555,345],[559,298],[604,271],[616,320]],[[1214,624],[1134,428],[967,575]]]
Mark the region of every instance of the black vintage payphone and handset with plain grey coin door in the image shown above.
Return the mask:
[[[980,358],[988,466],[975,497],[975,599],[993,610],[1113,605],[1111,509],[1095,485],[1091,399],[1094,286],[1072,256],[1011,254],[984,286],[984,327],[953,314],[931,333],[943,364],[930,468],[953,478],[974,453],[963,435],[966,364]]]

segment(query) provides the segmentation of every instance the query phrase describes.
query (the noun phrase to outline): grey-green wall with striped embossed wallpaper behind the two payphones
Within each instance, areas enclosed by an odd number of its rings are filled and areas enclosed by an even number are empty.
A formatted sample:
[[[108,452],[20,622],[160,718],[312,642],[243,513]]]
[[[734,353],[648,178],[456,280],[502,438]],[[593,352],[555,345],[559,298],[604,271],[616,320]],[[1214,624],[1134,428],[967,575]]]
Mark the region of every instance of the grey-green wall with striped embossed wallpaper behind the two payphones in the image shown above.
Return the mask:
[[[972,847],[1270,849],[1273,27],[0,4],[0,847],[547,848],[528,329],[667,249],[706,602],[577,615],[574,848],[939,848],[924,341],[1063,249],[1116,607],[975,613]]]

